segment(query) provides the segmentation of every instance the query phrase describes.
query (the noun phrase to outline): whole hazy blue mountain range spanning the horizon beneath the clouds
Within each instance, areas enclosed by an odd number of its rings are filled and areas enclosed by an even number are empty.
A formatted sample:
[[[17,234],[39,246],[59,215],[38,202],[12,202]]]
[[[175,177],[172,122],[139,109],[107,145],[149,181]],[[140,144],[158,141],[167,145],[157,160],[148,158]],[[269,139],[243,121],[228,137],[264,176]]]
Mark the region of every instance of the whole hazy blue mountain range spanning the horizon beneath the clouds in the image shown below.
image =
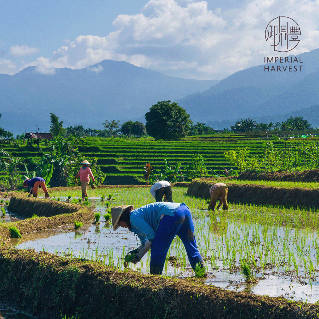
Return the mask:
[[[0,74],[0,126],[12,132],[34,132],[37,127],[48,131],[50,113],[64,127],[101,129],[105,120],[113,119],[145,122],[149,108],[163,100],[178,102],[193,122],[205,122],[214,129],[227,127],[227,121],[228,127],[234,125],[239,118],[277,122],[278,116],[300,112],[317,125],[318,108],[307,110],[319,104],[318,57],[319,49],[315,49],[296,56],[295,63],[294,56],[289,56],[289,63],[261,61],[221,81],[175,78],[112,60],[81,70],[55,69],[52,75],[28,67],[13,76]],[[301,71],[283,71],[289,65],[292,69],[302,65]],[[272,66],[276,71],[267,70]]]

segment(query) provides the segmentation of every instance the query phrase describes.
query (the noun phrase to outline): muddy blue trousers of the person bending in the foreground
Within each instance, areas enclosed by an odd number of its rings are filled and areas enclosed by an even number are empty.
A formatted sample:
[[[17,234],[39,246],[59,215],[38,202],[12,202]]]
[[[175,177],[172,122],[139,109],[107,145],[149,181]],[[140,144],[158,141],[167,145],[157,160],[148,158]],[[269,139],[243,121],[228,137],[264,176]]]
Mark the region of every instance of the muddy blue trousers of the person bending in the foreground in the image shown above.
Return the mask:
[[[159,223],[151,246],[150,274],[162,273],[168,249],[175,235],[182,240],[193,270],[197,263],[204,265],[196,245],[192,215],[189,209],[182,205],[175,211],[174,216],[164,215]]]

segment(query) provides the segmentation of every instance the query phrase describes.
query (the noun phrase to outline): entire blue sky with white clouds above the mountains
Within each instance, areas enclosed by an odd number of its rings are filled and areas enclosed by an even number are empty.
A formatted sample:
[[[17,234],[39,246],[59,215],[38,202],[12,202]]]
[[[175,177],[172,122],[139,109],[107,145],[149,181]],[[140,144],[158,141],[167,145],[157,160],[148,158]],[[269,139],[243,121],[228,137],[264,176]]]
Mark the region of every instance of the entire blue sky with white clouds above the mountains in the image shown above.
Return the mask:
[[[319,0],[1,0],[0,73],[35,66],[50,76],[110,59],[220,80],[291,54],[265,40],[278,16],[300,26],[294,55],[319,48]]]

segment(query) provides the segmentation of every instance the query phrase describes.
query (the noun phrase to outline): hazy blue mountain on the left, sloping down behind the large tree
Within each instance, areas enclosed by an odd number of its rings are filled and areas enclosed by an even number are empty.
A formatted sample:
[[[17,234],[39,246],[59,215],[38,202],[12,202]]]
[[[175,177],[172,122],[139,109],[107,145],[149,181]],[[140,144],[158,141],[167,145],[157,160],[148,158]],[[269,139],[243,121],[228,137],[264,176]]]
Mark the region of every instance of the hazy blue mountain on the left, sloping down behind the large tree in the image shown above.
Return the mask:
[[[203,91],[217,80],[193,80],[166,76],[124,61],[104,60],[93,66],[55,69],[45,75],[28,67],[19,73],[0,75],[0,125],[7,130],[48,130],[50,112],[64,125],[102,128],[105,120],[137,120],[152,104],[176,100]]]

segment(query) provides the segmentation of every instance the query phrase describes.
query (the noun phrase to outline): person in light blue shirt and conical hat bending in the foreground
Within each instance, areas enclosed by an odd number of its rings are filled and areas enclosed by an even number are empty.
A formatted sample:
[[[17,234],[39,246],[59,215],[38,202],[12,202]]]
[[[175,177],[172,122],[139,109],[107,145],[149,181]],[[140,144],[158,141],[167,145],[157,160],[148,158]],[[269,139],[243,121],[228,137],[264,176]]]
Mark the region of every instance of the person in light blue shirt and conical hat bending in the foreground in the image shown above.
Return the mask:
[[[156,202],[133,210],[133,205],[117,206],[111,209],[113,229],[119,226],[137,234],[141,246],[129,252],[135,253],[132,263],[139,262],[151,248],[151,274],[161,274],[168,249],[177,235],[181,238],[189,262],[204,267],[194,237],[194,224],[186,204]],[[129,255],[128,254],[128,255]]]

